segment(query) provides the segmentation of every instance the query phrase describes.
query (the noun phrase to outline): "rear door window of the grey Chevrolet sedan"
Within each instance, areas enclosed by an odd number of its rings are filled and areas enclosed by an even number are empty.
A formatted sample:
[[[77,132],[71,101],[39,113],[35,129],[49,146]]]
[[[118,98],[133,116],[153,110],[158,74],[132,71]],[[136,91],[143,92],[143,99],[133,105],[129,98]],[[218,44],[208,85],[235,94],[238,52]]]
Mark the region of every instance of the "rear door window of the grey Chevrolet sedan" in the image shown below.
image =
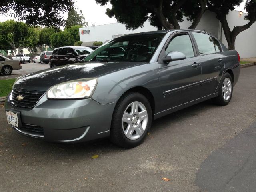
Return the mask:
[[[212,38],[208,34],[192,32],[196,39],[196,44],[200,55],[207,55],[216,53]]]

